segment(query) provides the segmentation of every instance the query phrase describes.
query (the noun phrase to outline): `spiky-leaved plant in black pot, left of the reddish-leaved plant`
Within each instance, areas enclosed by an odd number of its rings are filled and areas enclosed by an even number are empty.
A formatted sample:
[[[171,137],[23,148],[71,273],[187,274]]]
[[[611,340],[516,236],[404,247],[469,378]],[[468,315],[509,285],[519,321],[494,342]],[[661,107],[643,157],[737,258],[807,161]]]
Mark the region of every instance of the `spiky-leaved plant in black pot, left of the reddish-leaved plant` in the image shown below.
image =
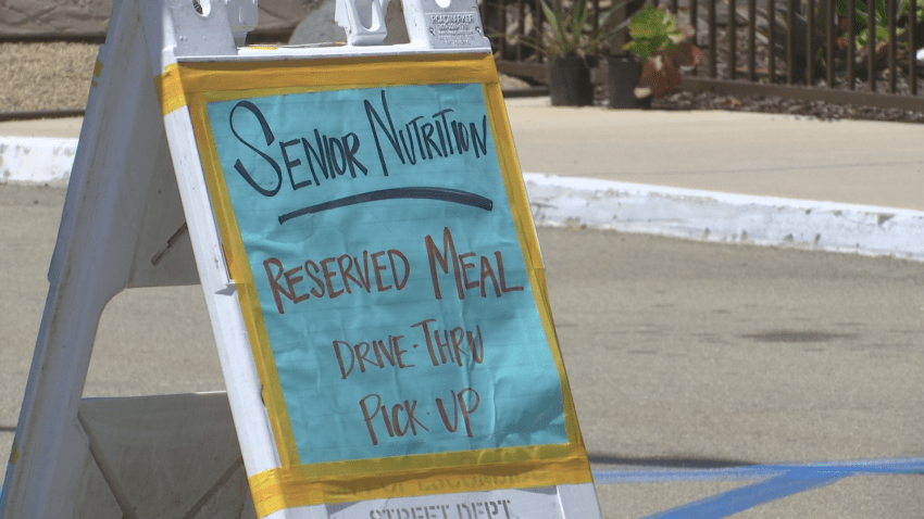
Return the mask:
[[[613,37],[614,30],[590,31],[590,0],[542,0],[548,22],[545,35],[527,42],[549,56],[549,93],[552,105],[588,105],[594,103],[590,83],[591,61],[596,52]],[[570,1],[569,5],[565,1]],[[612,11],[611,11],[612,12]],[[605,27],[609,14],[601,21]]]

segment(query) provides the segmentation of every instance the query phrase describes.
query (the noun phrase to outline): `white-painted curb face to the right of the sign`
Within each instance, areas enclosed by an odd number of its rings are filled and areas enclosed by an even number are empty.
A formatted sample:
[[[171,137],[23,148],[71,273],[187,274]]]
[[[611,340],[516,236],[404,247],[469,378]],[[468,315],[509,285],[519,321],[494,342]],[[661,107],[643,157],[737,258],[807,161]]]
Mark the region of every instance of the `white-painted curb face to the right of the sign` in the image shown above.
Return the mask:
[[[924,261],[924,212],[523,175],[536,225]]]

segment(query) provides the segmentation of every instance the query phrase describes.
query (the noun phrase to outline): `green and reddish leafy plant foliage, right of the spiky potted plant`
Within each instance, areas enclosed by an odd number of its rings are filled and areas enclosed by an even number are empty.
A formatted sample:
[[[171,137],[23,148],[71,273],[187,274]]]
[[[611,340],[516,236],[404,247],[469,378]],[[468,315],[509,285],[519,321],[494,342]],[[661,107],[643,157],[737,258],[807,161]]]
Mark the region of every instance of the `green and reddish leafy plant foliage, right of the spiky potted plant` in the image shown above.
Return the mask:
[[[702,62],[702,51],[685,41],[694,28],[677,24],[677,16],[646,5],[628,24],[632,41],[623,49],[641,62],[641,75],[635,89],[637,98],[660,98],[680,84],[680,67]]]

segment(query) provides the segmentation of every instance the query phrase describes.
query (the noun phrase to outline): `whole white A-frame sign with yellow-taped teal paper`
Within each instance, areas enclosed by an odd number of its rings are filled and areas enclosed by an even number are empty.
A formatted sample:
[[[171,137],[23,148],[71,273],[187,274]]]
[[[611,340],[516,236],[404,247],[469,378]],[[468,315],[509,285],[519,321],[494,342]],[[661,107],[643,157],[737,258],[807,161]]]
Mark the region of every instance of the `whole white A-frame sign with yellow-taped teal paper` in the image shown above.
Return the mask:
[[[599,518],[477,7],[253,3],[115,2],[0,514]],[[83,401],[109,299],[197,281],[227,395]]]

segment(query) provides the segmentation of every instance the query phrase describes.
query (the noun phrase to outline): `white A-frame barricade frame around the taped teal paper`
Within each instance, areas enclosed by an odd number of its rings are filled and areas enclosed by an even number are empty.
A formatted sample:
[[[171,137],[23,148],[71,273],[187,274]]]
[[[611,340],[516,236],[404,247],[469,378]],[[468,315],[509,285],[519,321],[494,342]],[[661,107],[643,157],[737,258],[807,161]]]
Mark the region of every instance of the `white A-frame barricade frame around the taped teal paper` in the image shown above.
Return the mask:
[[[237,288],[225,266],[189,107],[162,110],[158,100],[166,96],[157,91],[152,78],[185,61],[411,56],[447,49],[489,54],[477,7],[455,2],[404,3],[410,42],[395,46],[375,45],[387,5],[377,0],[339,2],[338,18],[349,22],[352,45],[272,50],[238,48],[255,26],[255,1],[202,0],[201,13],[189,0],[115,2],[49,269],[50,289],[0,517],[253,516],[249,493],[234,492],[239,483],[229,481],[241,481],[245,471],[251,477],[279,467],[279,454]],[[107,302],[125,288],[197,281],[205,294],[228,381],[227,402],[215,395],[171,395],[166,406],[160,397],[82,401],[96,327]],[[227,404],[239,451],[234,434],[228,434]],[[196,482],[151,495],[149,477],[139,477],[132,465],[137,460],[126,455],[143,431],[120,425],[114,417],[127,423],[158,413],[165,442],[186,445],[185,455],[202,450],[203,434],[216,440],[205,442],[212,451],[205,448],[209,461],[200,466],[200,473],[179,474]],[[159,456],[157,448],[163,446],[152,447],[147,461],[162,464],[162,471],[178,470],[183,460]],[[525,507],[511,507],[512,502]],[[336,505],[284,504],[264,517],[555,519],[599,518],[600,512],[592,484],[584,482],[473,493],[447,489],[440,495]]]

